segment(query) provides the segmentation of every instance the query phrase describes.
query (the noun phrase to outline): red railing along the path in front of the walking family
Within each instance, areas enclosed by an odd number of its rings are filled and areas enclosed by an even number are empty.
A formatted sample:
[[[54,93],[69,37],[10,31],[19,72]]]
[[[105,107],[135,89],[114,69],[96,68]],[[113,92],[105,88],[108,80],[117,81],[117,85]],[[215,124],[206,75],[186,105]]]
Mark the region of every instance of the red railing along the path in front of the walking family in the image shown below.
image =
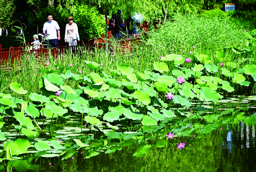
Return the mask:
[[[108,33],[108,39],[111,39],[111,31]],[[132,51],[136,46],[136,41],[138,37],[135,39],[124,39],[118,42],[119,51]],[[78,47],[86,47],[86,49],[94,50],[94,49],[103,49],[106,47],[106,39],[102,34],[102,37],[90,39],[90,40],[82,40],[79,42],[77,46],[68,46],[66,43],[58,44],[58,48],[48,49],[43,48],[43,45],[40,45],[40,48],[37,50],[29,50],[29,43],[27,43],[26,47],[10,47],[10,48],[2,48],[0,45],[0,65],[8,67],[12,66],[14,63],[20,62],[22,57],[28,54],[34,54],[38,59],[42,59],[44,56],[48,55],[51,52],[51,55],[57,57],[59,54],[66,53],[70,50],[76,51]],[[110,51],[115,51],[116,48],[113,45],[109,44]]]

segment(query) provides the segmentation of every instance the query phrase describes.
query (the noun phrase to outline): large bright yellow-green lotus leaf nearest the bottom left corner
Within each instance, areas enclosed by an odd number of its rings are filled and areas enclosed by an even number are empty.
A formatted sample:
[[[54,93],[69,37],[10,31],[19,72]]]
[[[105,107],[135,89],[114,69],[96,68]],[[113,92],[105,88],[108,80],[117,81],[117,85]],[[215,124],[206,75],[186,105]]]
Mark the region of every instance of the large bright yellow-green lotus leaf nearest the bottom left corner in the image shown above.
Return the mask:
[[[30,143],[26,139],[17,139],[8,144],[9,150],[11,150],[12,155],[20,155],[27,153],[27,149],[30,147]]]

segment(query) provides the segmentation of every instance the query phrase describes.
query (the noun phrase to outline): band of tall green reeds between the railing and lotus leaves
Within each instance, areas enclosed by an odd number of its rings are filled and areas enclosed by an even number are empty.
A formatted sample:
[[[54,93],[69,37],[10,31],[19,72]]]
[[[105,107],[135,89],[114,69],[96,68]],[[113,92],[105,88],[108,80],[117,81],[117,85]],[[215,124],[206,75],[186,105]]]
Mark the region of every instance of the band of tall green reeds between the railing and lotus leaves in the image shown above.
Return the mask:
[[[20,64],[14,66],[13,69],[5,71],[1,69],[1,88],[0,92],[6,94],[14,94],[9,89],[9,83],[21,83],[23,88],[28,92],[40,92],[39,78],[42,76],[40,70],[55,70],[55,65],[73,64],[74,73],[82,71],[82,75],[89,74],[89,69],[86,67],[84,60],[103,63],[103,71],[108,73],[111,69],[116,69],[120,64],[130,65],[137,71],[144,69],[153,69],[153,62],[160,61],[159,56],[167,54],[182,54],[191,57],[189,51],[193,53],[209,55],[213,62],[219,64],[229,61],[230,58],[234,62],[243,61],[244,56],[235,55],[232,51],[224,53],[224,58],[216,57],[216,51],[224,52],[225,47],[247,47],[253,50],[249,57],[255,58],[255,46],[248,44],[250,31],[243,31],[248,21],[239,21],[238,19],[226,18],[204,18],[199,16],[176,15],[172,21],[167,21],[164,25],[159,26],[158,30],[151,30],[145,36],[140,37],[140,41],[133,45],[133,51],[123,50],[120,48],[120,42],[110,40],[108,55],[105,55],[104,49],[88,50],[80,48],[77,54],[66,53],[59,56],[58,59],[52,56],[44,56],[38,60],[34,54],[24,56]],[[249,40],[250,41],[250,40]],[[195,46],[195,49],[192,48]],[[185,50],[183,53],[182,50]],[[248,58],[248,57],[247,57]],[[46,62],[50,61],[50,65]],[[255,64],[255,60],[247,60],[240,63]],[[170,69],[175,69],[175,65],[169,63]],[[242,66],[239,66],[240,68]],[[234,69],[230,69],[234,70]],[[170,72],[171,73],[171,72]],[[218,73],[218,77],[222,74]],[[22,95],[23,100],[28,100],[28,95]]]

